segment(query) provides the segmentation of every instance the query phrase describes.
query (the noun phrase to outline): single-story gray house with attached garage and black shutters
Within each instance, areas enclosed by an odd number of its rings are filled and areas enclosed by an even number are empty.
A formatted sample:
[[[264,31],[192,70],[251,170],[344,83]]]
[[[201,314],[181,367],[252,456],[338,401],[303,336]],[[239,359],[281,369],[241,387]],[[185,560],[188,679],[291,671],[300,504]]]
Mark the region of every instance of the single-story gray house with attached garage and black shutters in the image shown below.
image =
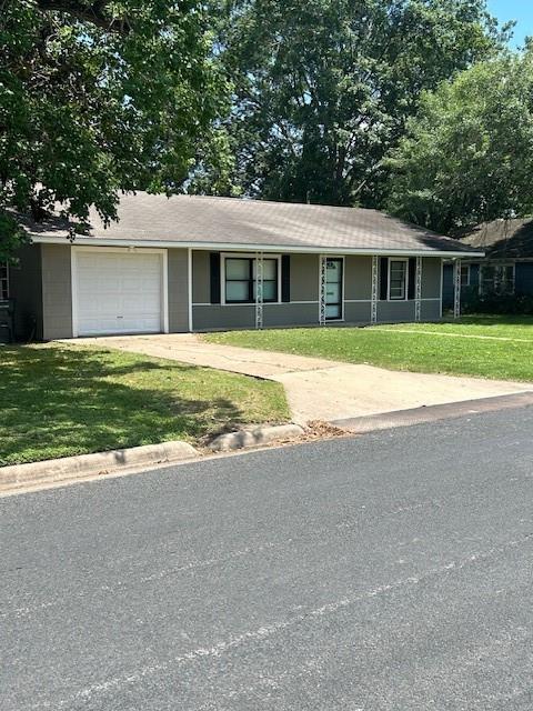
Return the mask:
[[[27,224],[9,274],[20,334],[435,321],[443,259],[483,256],[373,210],[139,192],[119,217],[73,241]]]

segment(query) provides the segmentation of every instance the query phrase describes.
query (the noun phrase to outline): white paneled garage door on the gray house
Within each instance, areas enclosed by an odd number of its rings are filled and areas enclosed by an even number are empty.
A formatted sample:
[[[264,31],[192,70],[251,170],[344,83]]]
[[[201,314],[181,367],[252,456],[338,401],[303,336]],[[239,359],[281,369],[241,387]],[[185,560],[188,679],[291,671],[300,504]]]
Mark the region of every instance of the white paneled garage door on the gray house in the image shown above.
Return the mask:
[[[161,253],[77,251],[78,336],[160,332],[162,263]]]

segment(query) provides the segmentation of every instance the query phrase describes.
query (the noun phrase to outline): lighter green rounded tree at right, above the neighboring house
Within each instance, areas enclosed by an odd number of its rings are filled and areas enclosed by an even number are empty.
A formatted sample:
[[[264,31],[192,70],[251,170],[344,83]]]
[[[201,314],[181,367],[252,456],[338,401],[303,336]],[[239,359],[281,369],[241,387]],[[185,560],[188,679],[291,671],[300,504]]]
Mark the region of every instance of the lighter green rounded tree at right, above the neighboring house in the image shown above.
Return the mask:
[[[389,209],[447,232],[533,211],[533,51],[422,97],[390,160]]]

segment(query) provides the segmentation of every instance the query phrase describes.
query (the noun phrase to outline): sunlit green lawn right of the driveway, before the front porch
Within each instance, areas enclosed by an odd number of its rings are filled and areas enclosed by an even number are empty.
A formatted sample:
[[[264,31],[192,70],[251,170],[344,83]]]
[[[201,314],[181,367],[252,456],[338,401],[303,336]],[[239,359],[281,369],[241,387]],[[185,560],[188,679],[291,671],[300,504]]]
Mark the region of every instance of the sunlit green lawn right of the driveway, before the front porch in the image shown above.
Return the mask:
[[[204,338],[215,343],[393,370],[533,381],[533,317],[469,317],[455,323],[372,328],[234,331]]]

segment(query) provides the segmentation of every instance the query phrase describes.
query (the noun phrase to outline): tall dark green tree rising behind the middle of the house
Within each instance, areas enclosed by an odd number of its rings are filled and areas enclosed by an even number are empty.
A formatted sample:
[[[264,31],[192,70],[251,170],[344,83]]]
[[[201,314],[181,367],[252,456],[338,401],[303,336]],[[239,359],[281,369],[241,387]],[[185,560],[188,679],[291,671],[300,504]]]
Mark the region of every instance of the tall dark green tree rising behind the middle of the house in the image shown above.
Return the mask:
[[[493,54],[505,31],[484,0],[229,0],[225,191],[381,204],[383,157],[422,90]],[[214,176],[217,188],[208,170],[199,189],[220,190]]]

